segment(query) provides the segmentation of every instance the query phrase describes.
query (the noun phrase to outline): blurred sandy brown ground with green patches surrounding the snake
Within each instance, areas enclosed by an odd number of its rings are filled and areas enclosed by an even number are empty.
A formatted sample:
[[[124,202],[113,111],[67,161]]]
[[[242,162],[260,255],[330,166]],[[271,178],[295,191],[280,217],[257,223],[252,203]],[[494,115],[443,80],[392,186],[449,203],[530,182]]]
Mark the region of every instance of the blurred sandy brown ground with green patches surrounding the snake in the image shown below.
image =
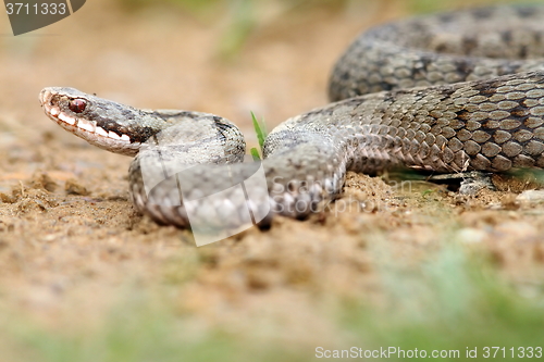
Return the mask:
[[[431,209],[398,207],[393,222],[280,221],[196,249],[190,233],[134,212],[129,159],[62,130],[38,103],[41,88],[70,86],[215,113],[255,147],[250,112],[272,129],[325,104],[332,65],[364,29],[498,2],[89,0],[17,37],[0,15],[0,361],[544,347],[541,219],[505,211],[504,224],[485,200],[473,213],[434,209],[431,192],[417,199]]]

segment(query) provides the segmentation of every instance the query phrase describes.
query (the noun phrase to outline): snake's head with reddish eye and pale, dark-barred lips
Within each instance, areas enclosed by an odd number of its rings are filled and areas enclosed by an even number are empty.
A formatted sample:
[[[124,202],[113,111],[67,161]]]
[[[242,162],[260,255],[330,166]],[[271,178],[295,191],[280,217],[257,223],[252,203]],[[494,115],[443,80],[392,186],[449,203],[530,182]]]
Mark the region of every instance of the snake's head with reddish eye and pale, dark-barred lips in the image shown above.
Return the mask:
[[[74,88],[45,88],[39,101],[52,121],[89,143],[126,155],[138,152],[138,110]]]

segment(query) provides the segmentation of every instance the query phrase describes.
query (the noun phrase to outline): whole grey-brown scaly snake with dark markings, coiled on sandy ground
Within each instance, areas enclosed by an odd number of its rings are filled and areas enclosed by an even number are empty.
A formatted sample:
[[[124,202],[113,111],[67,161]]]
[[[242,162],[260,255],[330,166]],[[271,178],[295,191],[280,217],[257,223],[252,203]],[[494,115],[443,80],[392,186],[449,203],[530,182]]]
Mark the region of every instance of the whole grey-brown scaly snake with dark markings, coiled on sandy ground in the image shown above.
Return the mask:
[[[242,133],[223,117],[138,110],[73,88],[40,93],[63,128],[135,155],[133,202],[159,223],[187,227],[198,216],[235,225],[248,209],[265,215],[263,223],[274,214],[300,219],[341,194],[347,171],[544,167],[544,7],[461,10],[372,28],[336,63],[330,98],[270,133],[262,187],[251,177],[256,166],[240,163]],[[243,202],[225,186],[238,182],[249,195]]]

